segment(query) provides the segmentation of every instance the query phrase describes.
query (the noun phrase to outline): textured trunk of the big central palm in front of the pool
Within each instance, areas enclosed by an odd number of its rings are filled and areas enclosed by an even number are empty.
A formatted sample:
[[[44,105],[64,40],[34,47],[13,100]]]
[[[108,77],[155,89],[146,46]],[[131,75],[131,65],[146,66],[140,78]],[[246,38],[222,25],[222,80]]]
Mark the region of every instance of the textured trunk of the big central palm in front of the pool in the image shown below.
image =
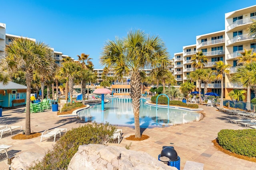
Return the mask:
[[[131,98],[134,113],[135,137],[140,138],[140,72],[131,73]]]

